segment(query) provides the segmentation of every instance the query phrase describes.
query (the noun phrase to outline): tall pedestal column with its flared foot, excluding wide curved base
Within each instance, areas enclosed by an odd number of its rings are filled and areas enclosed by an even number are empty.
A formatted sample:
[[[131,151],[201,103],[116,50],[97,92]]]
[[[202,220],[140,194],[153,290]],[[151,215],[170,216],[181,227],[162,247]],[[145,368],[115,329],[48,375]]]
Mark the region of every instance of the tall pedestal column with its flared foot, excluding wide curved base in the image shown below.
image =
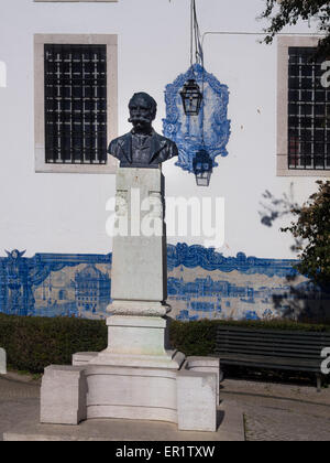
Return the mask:
[[[164,176],[161,169],[119,169],[108,348],[94,365],[179,368],[167,342]]]

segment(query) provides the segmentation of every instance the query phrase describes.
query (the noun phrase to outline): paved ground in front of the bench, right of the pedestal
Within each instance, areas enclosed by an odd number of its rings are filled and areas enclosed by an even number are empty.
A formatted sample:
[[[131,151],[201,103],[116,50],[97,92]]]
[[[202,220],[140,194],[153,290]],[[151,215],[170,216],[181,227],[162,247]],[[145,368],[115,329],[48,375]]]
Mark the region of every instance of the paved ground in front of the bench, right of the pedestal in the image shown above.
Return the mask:
[[[330,441],[330,389],[227,379],[221,397],[242,408],[248,441]]]

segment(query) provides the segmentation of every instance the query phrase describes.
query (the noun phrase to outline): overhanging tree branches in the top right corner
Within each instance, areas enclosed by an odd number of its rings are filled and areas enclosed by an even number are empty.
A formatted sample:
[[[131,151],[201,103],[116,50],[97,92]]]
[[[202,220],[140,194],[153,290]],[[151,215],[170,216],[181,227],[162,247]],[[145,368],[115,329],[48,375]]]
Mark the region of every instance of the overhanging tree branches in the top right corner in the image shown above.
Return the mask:
[[[274,36],[286,25],[295,25],[299,20],[316,21],[318,31],[324,34],[320,39],[318,53],[330,52],[330,2],[328,0],[265,0],[266,8],[261,19],[271,21],[265,29],[265,43],[272,43]],[[279,6],[278,6],[279,3]]]

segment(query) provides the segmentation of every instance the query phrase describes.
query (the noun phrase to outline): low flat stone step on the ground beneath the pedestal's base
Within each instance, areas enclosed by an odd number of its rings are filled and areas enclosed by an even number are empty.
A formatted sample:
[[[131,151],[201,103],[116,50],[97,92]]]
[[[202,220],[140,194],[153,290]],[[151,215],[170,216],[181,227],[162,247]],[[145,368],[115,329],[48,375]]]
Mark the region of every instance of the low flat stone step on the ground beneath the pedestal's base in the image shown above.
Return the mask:
[[[140,420],[87,420],[80,426],[41,424],[33,417],[3,434],[4,441],[222,442],[244,441],[243,413],[234,402],[217,410],[216,432],[178,431],[176,424]],[[152,445],[151,445],[152,448]]]

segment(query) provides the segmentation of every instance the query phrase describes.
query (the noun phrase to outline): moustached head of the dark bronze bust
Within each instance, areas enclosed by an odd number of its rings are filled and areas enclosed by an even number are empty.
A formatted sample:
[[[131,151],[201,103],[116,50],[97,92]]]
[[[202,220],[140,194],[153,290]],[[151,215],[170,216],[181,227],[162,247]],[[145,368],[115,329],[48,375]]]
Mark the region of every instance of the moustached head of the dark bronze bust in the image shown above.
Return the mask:
[[[152,121],[156,117],[157,104],[153,97],[140,91],[134,94],[129,103],[130,119],[136,132],[148,132],[152,129]]]

